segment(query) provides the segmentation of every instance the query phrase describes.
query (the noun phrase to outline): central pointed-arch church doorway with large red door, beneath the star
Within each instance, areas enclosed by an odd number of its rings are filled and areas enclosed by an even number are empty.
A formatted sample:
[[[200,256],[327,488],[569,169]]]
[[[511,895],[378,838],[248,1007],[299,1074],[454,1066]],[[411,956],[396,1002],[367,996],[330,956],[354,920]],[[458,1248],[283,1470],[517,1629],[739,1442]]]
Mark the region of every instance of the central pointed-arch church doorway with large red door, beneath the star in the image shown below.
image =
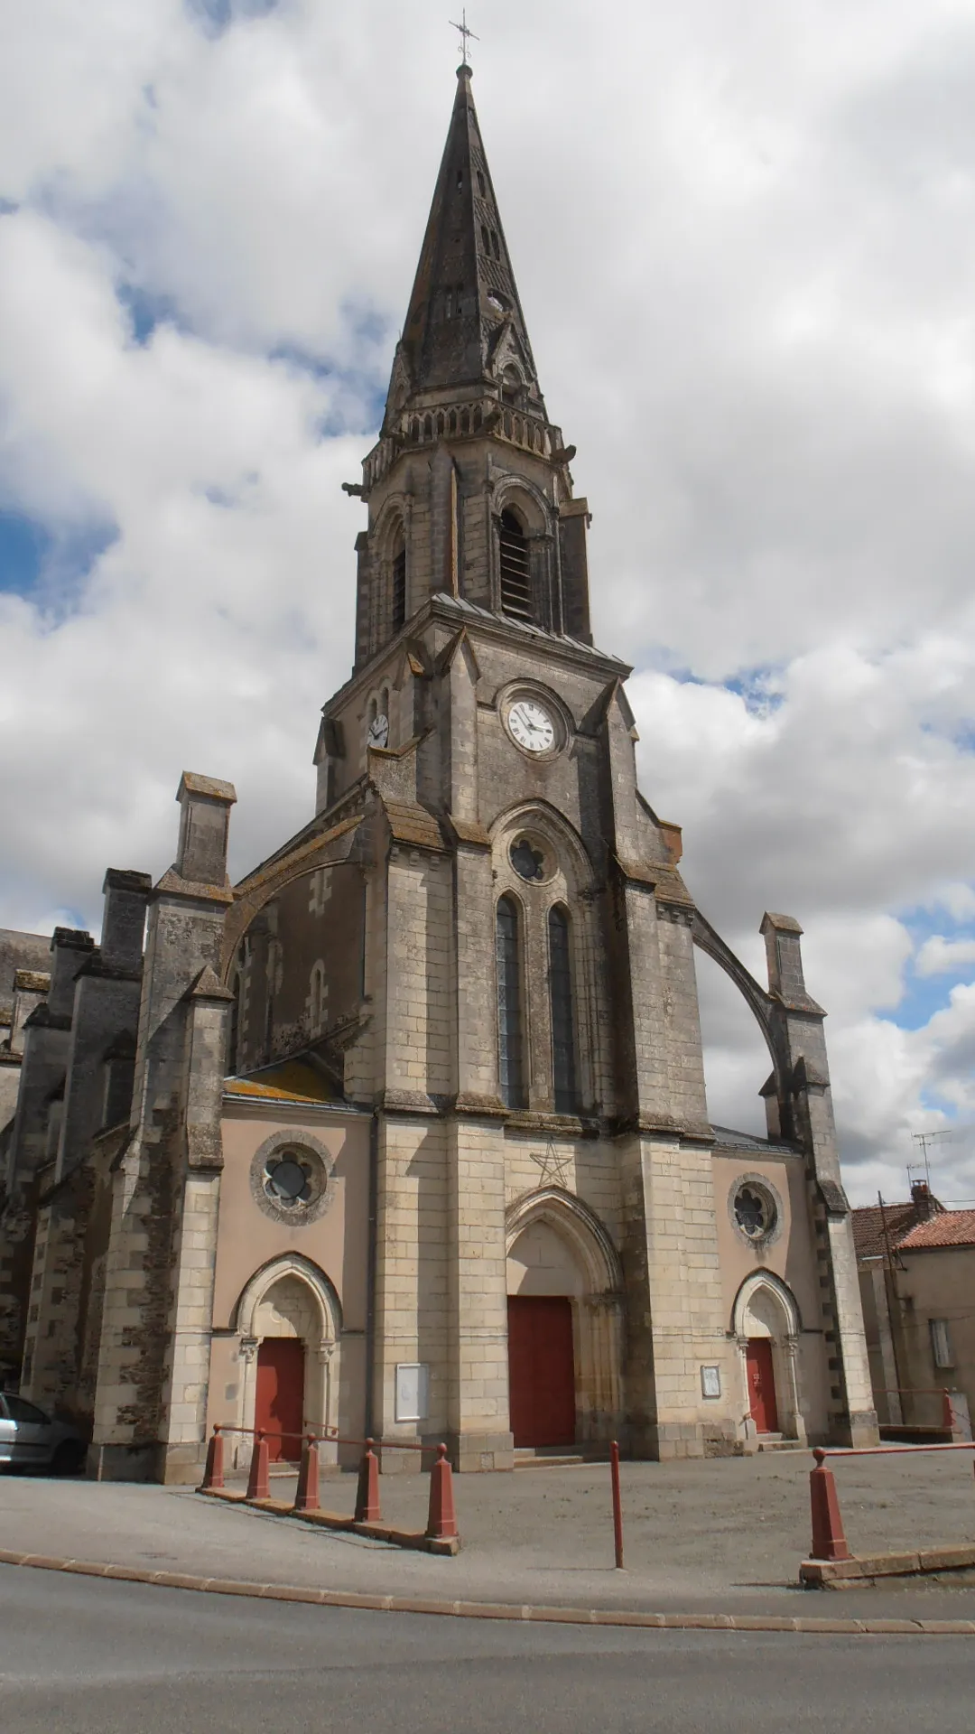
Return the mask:
[[[621,1273],[560,1188],[508,1212],[508,1413],[515,1450],[605,1443],[621,1411]]]

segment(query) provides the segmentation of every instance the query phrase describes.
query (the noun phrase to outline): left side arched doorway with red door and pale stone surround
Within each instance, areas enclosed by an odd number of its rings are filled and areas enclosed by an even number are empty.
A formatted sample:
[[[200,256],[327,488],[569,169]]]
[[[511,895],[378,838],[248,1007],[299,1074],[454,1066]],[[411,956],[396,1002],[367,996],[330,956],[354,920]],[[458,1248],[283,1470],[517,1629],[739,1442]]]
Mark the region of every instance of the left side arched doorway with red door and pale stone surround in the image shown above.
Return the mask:
[[[338,1297],[316,1264],[290,1254],[252,1276],[236,1307],[236,1327],[243,1361],[239,1425],[269,1434],[272,1462],[295,1462],[304,1432],[337,1431]],[[321,1450],[323,1460],[333,1451]]]

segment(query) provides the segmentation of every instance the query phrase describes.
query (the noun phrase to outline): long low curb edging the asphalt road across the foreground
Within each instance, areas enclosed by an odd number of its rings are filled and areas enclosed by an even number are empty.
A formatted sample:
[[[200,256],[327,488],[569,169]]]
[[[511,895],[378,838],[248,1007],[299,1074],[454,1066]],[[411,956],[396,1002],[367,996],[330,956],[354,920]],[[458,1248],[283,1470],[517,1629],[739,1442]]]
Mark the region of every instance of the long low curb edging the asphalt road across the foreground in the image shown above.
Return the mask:
[[[0,1566],[71,1571],[121,1583],[156,1583],[167,1590],[210,1595],[250,1595],[267,1602],[309,1602],[312,1607],[357,1607],[383,1614],[448,1614],[455,1620],[534,1620],[546,1625],[647,1626],[666,1632],[800,1632],[840,1637],[975,1637],[975,1620],[800,1620],[788,1614],[651,1614],[625,1607],[545,1607],[527,1602],[434,1600],[418,1595],[368,1595],[356,1590],[314,1590],[293,1583],[250,1583],[246,1578],[198,1578],[186,1571],[142,1571],[92,1559],[12,1554],[0,1548]]]

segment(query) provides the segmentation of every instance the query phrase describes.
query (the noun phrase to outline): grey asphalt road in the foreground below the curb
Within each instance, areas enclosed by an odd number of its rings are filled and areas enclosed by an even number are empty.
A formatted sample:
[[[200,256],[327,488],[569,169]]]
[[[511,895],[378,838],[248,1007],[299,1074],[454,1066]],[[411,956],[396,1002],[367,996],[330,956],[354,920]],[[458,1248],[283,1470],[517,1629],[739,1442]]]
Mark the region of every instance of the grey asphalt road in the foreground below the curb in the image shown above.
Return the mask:
[[[3,1734],[970,1734],[975,1640],[595,1632],[0,1566]]]

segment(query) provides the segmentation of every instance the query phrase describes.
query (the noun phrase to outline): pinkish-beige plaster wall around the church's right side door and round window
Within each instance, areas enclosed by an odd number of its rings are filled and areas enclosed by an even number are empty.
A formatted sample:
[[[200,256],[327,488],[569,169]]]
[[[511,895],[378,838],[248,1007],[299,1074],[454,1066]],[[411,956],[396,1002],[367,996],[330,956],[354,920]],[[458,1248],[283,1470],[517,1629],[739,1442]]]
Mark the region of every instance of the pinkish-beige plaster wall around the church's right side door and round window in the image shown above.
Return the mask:
[[[805,1165],[789,1157],[775,1162],[751,1150],[722,1150],[713,1153],[713,1174],[725,1328],[734,1330],[737,1292],[755,1271],[772,1271],[786,1285],[800,1313],[796,1353],[800,1410],[810,1443],[817,1443],[828,1432],[829,1377]],[[739,1181],[749,1174],[765,1179],[782,1207],[779,1235],[760,1247],[746,1240],[730,1212],[730,1198]],[[775,1379],[779,1380],[779,1368],[775,1368]],[[744,1415],[748,1413],[744,1387],[737,1396]],[[782,1401],[782,1392],[779,1392],[779,1401]]]

